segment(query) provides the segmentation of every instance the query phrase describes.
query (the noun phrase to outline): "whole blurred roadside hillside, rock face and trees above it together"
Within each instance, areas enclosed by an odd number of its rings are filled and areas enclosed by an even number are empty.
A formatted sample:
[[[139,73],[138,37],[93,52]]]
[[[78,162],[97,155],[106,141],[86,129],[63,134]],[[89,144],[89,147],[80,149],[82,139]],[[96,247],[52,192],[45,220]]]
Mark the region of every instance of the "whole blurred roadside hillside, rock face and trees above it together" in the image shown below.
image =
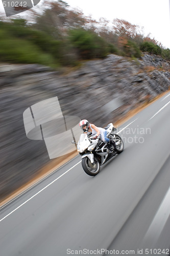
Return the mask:
[[[63,115],[104,126],[168,90],[170,50],[138,25],[97,21],[63,1],[0,18],[3,201],[52,161],[44,141],[26,136],[29,106],[57,96]],[[106,113],[102,106],[117,97],[123,105]]]

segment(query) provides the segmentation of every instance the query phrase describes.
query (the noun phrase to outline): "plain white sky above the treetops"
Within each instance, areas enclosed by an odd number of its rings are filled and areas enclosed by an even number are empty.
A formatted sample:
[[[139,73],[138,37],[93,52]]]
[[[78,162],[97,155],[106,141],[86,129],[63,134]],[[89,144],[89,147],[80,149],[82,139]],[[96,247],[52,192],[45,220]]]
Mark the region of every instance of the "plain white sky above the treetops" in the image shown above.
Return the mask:
[[[143,27],[145,35],[161,42],[170,49],[170,0],[64,0],[71,7],[80,8],[85,15],[99,20],[125,19],[131,24]],[[43,0],[37,7],[43,3]],[[35,8],[37,8],[35,7]],[[0,0],[0,10],[4,11]],[[27,11],[29,12],[29,11]],[[26,12],[22,13],[24,18]]]

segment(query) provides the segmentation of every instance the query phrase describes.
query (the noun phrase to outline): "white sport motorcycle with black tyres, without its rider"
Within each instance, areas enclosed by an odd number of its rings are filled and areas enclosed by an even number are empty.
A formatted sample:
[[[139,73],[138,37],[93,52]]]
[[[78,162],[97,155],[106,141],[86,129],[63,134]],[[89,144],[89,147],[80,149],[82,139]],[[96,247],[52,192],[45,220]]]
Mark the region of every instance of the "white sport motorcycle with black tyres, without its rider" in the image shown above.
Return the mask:
[[[90,134],[81,134],[77,144],[77,151],[82,156],[82,167],[84,172],[95,176],[100,172],[100,166],[106,163],[116,154],[124,150],[123,140],[115,134],[115,127],[109,123],[105,128],[107,137],[115,142],[115,146],[103,142],[101,138],[92,139]]]

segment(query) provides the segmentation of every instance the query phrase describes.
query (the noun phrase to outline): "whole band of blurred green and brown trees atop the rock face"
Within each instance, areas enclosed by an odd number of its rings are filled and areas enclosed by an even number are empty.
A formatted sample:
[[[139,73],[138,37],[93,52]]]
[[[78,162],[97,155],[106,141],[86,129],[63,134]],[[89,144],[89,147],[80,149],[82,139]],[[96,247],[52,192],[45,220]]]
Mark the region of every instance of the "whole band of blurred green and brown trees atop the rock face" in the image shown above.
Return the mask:
[[[27,20],[15,18],[0,22],[0,61],[39,63],[53,68],[76,66],[81,60],[104,58],[110,53],[140,58],[142,52],[170,60],[170,50],[139,26],[114,19],[112,24],[85,17],[67,3],[46,3],[40,14],[32,11]],[[34,17],[34,19],[32,19]]]

